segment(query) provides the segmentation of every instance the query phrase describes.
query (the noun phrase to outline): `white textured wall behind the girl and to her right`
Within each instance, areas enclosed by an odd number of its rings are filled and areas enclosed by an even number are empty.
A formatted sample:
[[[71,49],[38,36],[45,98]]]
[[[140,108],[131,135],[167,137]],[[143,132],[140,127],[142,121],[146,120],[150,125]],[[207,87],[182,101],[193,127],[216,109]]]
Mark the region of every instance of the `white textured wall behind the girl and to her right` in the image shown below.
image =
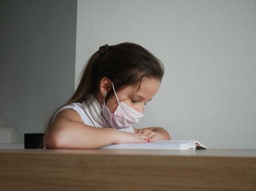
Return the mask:
[[[76,82],[104,44],[138,43],[163,62],[137,127],[209,148],[256,149],[256,1],[81,1]]]

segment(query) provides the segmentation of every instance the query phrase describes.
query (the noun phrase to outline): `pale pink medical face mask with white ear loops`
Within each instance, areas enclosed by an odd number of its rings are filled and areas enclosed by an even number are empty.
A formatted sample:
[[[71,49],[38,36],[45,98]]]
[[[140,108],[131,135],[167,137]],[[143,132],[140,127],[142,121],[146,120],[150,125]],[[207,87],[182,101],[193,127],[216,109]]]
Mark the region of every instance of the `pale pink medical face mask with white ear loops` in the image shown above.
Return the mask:
[[[113,86],[113,83],[112,83]],[[115,88],[113,86],[113,91],[116,96]],[[123,102],[119,102],[116,96],[118,107],[116,111],[112,114],[109,111],[109,108],[105,105],[105,99],[103,98],[104,105],[102,105],[103,116],[109,122],[112,127],[116,127],[117,129],[128,128],[132,126],[132,124],[138,123],[139,118],[143,117],[144,114],[141,112],[136,111],[133,108],[130,108],[128,105],[124,104]]]

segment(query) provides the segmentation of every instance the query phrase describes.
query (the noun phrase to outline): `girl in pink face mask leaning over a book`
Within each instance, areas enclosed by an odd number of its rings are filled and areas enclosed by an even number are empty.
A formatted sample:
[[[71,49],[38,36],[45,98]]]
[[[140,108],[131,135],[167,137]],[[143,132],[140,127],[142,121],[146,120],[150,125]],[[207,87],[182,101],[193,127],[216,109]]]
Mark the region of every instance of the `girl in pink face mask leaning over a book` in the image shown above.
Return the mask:
[[[109,144],[170,140],[158,127],[136,129],[158,91],[162,63],[138,44],[105,45],[90,57],[71,99],[47,124],[46,148],[92,149]]]

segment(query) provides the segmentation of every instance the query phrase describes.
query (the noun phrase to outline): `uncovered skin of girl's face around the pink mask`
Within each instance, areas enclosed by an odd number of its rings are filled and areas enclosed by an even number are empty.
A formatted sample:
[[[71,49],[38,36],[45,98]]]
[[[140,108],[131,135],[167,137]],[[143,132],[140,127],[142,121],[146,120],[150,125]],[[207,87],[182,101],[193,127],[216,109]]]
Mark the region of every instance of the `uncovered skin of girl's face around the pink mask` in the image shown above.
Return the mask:
[[[144,77],[144,79],[141,81],[139,92],[134,97],[132,96],[138,91],[138,86],[136,85],[127,86],[121,91],[116,92],[116,95],[120,102],[123,102],[129,105],[131,108],[144,114],[145,104],[149,102],[153,96],[155,96],[159,87],[159,80]],[[107,99],[106,106],[109,108],[111,113],[116,111],[118,102],[115,94]]]

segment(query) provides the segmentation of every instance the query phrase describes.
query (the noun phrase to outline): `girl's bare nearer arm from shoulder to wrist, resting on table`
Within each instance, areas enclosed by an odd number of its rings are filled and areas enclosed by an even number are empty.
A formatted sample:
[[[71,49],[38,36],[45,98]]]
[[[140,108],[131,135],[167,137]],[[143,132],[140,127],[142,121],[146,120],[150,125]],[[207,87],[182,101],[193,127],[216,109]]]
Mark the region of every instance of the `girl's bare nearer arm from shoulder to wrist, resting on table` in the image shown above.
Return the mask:
[[[47,148],[92,149],[118,141],[118,132],[112,128],[95,128],[82,123],[72,109],[61,110],[47,128],[44,146]]]

